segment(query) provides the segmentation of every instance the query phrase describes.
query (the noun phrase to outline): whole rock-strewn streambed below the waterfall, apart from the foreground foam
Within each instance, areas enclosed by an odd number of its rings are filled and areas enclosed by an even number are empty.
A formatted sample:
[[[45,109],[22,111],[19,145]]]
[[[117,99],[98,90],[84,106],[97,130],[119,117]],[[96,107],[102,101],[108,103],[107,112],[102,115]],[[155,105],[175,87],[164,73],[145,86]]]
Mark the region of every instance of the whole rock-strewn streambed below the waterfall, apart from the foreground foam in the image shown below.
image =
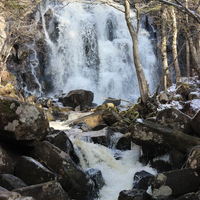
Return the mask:
[[[100,199],[107,185],[104,174],[87,168],[89,157],[80,157],[74,140],[90,142],[84,144],[88,152],[89,144],[115,149],[107,158],[116,163],[122,162],[119,151],[131,152],[133,144],[141,149],[131,187],[115,199],[199,199],[199,86],[195,77],[182,78],[150,97],[147,107],[140,102],[122,107],[113,99],[94,105],[90,91],[36,99],[23,98],[11,83],[2,85],[0,199]]]

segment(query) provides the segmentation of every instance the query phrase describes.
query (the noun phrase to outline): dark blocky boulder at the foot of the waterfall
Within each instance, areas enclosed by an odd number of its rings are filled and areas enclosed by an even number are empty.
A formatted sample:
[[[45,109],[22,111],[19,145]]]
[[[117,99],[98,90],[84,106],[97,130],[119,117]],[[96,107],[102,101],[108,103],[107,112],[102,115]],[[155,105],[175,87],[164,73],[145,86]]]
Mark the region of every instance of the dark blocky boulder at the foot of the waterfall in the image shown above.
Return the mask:
[[[59,97],[59,101],[63,106],[91,106],[94,99],[94,94],[87,90],[72,90],[67,95]]]

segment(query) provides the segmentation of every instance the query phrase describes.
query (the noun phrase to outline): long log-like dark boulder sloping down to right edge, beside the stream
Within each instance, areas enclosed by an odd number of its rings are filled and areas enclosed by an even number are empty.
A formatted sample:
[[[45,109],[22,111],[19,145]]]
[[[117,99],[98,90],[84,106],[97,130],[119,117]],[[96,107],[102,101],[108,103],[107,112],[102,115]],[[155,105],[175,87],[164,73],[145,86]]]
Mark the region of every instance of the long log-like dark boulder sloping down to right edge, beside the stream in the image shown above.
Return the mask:
[[[200,144],[197,137],[142,119],[134,124],[131,140],[138,145],[159,145],[177,149],[182,153],[187,153],[190,148]]]

